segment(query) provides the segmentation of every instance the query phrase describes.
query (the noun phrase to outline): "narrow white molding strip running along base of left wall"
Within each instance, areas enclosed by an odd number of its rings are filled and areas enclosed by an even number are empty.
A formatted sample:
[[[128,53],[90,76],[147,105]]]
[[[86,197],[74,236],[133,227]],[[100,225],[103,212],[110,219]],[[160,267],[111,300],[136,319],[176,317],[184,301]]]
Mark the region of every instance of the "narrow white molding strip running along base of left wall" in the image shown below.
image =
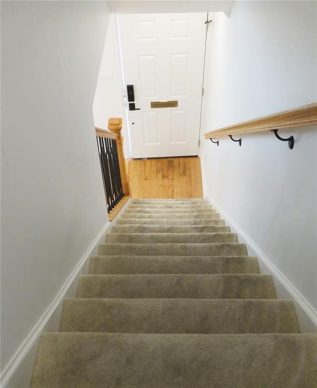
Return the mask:
[[[25,356],[28,354],[28,352],[31,350],[33,345],[38,340],[39,336],[41,335],[45,325],[47,324],[50,317],[54,314],[60,303],[63,301],[66,293],[68,292],[68,289],[71,287],[72,283],[80,273],[82,267],[86,263],[86,261],[91,256],[91,253],[95,249],[95,247],[99,244],[100,240],[104,236],[105,233],[109,230],[111,227],[111,222],[108,220],[107,223],[102,227],[100,232],[96,235],[96,237],[92,240],[91,244],[89,245],[88,249],[78,262],[78,264],[75,266],[71,274],[68,276],[65,283],[62,285],[61,289],[59,290],[57,296],[54,298],[54,300],[51,302],[51,304],[47,307],[47,309],[44,311],[40,319],[36,322],[32,330],[29,332],[27,337],[25,338],[24,342],[20,345],[18,350],[15,352],[11,360],[8,362],[8,364],[5,366],[3,373],[1,374],[1,386],[5,387],[9,380],[12,378],[18,367],[20,366],[21,362],[25,358]]]

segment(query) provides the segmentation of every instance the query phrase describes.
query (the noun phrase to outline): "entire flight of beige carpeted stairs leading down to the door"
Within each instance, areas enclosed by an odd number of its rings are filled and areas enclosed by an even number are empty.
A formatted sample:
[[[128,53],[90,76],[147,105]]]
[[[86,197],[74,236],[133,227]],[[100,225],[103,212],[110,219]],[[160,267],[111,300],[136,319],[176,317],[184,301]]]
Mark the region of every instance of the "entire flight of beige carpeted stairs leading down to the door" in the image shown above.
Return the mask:
[[[205,200],[134,200],[42,334],[31,386],[315,388],[316,348]]]

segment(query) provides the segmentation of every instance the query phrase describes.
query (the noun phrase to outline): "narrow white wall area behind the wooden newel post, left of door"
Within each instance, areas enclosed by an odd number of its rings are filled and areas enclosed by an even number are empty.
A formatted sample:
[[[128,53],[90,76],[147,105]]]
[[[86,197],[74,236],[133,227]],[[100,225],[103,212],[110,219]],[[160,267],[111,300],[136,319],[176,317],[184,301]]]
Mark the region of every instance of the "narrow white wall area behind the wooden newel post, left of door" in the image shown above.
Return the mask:
[[[130,140],[127,129],[125,100],[123,97],[125,89],[122,81],[116,15],[111,15],[109,19],[99,75],[107,75],[108,80],[104,82],[100,77],[98,79],[93,102],[93,118],[95,126],[107,129],[108,119],[110,117],[122,117],[124,154],[126,158],[130,158]]]

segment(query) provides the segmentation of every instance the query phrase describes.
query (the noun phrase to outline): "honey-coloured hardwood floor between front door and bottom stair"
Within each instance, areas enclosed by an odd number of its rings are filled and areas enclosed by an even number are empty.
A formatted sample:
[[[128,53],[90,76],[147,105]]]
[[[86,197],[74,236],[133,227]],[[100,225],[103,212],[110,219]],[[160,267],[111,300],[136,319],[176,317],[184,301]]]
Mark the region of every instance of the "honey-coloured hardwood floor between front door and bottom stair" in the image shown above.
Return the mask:
[[[202,198],[200,158],[126,160],[131,198]]]

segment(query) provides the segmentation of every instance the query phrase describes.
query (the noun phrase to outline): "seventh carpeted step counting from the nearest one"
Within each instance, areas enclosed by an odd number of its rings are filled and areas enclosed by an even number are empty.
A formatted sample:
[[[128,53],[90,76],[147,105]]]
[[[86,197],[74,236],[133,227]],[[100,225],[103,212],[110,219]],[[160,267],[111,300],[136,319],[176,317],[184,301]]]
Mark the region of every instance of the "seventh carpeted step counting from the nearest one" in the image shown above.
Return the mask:
[[[111,233],[230,233],[225,225],[115,225]]]

